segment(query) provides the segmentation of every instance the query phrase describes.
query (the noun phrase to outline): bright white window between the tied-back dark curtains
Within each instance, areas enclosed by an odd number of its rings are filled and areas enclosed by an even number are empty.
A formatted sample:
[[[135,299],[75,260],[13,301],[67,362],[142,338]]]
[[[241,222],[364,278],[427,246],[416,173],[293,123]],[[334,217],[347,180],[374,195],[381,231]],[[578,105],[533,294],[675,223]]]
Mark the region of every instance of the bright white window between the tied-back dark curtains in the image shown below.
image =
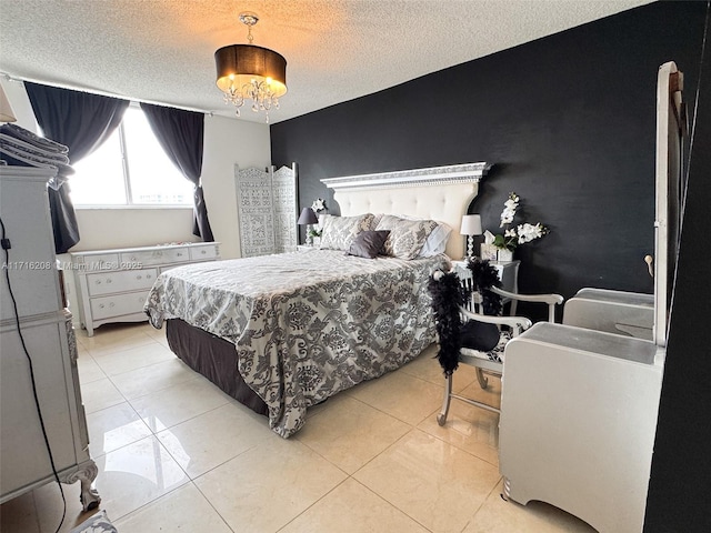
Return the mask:
[[[192,205],[192,183],[168,159],[138,105],[113,134],[72,165],[74,205]]]

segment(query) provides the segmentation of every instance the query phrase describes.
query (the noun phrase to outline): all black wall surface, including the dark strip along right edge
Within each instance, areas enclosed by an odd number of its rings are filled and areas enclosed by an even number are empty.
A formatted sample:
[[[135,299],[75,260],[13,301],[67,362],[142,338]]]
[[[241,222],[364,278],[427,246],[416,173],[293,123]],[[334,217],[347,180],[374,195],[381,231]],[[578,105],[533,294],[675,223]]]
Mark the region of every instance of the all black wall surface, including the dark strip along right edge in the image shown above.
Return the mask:
[[[470,212],[495,229],[513,190],[523,200],[519,220],[552,231],[517,251],[522,292],[651,292],[642,258],[653,250],[657,69],[673,60],[684,72],[692,117],[704,21],[705,1],[654,2],[280,122],[271,127],[273,163],[298,162],[301,207],[326,198],[332,213],[339,210],[322,178],[495,163]],[[645,532],[711,531],[709,53]]]

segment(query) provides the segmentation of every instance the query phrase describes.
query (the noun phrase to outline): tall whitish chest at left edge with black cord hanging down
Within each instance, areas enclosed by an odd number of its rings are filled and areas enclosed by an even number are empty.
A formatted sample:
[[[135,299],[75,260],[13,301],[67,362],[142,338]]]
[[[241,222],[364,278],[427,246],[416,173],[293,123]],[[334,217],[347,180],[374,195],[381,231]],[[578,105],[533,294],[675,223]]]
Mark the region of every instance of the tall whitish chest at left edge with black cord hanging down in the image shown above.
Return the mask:
[[[54,481],[34,402],[31,361],[57,475],[63,483],[81,481],[88,510],[100,502],[91,487],[98,469],[89,456],[74,331],[56,264],[47,195],[52,175],[40,169],[0,167],[0,217],[10,242],[7,258],[2,251],[0,280],[0,503]]]

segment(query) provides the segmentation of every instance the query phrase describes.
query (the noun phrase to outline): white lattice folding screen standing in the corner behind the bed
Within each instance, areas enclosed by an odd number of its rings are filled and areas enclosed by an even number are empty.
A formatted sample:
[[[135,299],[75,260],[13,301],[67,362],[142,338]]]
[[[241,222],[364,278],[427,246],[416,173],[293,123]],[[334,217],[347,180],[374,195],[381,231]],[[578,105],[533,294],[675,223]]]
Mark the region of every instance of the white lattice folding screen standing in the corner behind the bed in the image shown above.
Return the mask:
[[[243,258],[297,249],[297,165],[266,170],[234,165]]]

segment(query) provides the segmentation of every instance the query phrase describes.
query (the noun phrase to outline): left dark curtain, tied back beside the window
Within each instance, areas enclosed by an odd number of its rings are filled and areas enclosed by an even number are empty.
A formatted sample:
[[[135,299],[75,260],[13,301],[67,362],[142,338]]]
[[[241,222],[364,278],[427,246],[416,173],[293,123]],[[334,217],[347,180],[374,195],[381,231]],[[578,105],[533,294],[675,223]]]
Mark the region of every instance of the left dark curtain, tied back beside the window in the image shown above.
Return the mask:
[[[44,137],[69,147],[69,158],[73,163],[93,152],[113,133],[129,105],[128,100],[29,81],[24,87]],[[64,253],[79,242],[69,184],[64,182],[58,189],[49,188],[48,192],[54,250]]]

